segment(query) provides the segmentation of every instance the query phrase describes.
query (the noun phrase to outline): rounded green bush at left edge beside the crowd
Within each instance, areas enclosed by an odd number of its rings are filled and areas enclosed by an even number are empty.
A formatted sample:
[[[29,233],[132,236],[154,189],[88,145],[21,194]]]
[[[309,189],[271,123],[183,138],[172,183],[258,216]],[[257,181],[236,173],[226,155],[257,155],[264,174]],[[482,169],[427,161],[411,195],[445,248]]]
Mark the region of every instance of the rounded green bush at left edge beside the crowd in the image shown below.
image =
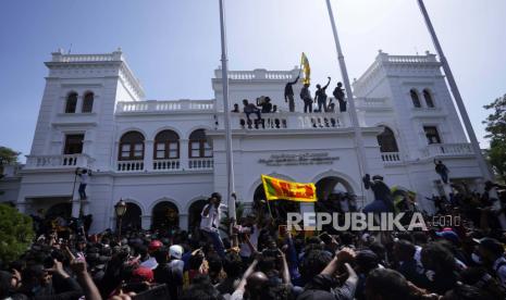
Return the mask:
[[[23,254],[34,239],[32,218],[0,204],[0,261],[11,262]]]

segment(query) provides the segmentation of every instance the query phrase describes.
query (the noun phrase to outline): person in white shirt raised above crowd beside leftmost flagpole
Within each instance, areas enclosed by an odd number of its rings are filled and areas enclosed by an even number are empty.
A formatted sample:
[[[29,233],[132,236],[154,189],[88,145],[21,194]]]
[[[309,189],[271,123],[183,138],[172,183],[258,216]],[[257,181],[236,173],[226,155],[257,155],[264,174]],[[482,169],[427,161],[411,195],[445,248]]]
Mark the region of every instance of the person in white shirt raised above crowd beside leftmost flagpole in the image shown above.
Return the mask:
[[[221,258],[225,257],[225,247],[221,240],[219,227],[221,220],[221,211],[226,209],[226,205],[221,203],[221,195],[213,192],[209,198],[209,203],[203,207],[202,213],[200,214],[200,230],[203,236],[212,241],[214,250]]]

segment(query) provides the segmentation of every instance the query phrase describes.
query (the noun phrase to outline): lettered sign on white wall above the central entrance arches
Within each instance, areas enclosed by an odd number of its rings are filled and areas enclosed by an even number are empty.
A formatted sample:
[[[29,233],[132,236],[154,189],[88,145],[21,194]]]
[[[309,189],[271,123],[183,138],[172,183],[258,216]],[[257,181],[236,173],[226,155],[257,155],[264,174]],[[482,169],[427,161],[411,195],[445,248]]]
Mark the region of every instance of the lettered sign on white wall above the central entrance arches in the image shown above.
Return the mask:
[[[297,153],[297,154],[271,154],[268,159],[260,159],[258,163],[268,166],[283,165],[312,165],[312,164],[333,164],[338,161],[340,157],[331,157],[328,152],[321,153]]]

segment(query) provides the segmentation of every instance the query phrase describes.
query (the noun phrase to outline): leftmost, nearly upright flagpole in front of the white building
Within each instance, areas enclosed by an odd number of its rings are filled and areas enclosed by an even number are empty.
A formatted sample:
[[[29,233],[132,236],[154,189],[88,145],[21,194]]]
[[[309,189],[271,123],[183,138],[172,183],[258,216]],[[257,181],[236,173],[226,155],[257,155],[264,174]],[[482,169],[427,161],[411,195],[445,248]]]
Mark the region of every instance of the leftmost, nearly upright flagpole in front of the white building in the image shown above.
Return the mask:
[[[229,59],[226,54],[226,30],[225,30],[225,5],[224,0],[220,1],[220,32],[221,32],[221,80],[223,86],[223,116],[225,125],[225,151],[226,151],[226,199],[229,201],[229,217],[236,220],[235,213],[235,193],[234,183],[234,164],[232,157],[232,132],[230,126],[229,109]],[[234,223],[234,222],[232,222]]]

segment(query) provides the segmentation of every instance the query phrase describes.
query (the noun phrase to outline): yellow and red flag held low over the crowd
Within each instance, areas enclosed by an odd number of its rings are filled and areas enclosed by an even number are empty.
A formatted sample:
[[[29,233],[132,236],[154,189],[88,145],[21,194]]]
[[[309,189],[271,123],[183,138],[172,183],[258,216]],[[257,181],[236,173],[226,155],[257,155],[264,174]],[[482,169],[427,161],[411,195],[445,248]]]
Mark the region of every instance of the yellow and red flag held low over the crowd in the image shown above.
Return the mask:
[[[314,184],[292,183],[261,175],[267,200],[291,200],[298,202],[316,202],[317,187]]]

